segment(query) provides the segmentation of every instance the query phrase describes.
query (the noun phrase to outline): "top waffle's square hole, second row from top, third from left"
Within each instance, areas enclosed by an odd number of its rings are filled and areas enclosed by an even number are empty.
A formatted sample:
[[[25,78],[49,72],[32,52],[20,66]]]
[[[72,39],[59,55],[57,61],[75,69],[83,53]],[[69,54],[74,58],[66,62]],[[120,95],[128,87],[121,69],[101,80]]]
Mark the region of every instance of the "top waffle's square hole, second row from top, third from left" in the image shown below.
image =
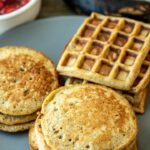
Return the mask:
[[[117,46],[124,46],[127,41],[128,41],[128,37],[127,36],[118,33],[118,35],[117,35],[117,37],[116,37],[116,39],[114,41],[114,44],[117,45]]]

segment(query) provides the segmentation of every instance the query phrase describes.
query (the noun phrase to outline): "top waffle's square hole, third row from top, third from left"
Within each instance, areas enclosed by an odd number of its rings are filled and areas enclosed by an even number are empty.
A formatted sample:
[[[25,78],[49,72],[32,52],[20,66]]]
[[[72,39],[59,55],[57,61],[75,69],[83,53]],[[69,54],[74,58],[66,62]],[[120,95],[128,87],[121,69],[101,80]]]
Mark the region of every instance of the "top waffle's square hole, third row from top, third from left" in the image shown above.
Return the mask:
[[[109,61],[115,62],[117,61],[118,57],[120,55],[120,50],[114,47],[110,47],[107,54],[106,54],[106,58]]]

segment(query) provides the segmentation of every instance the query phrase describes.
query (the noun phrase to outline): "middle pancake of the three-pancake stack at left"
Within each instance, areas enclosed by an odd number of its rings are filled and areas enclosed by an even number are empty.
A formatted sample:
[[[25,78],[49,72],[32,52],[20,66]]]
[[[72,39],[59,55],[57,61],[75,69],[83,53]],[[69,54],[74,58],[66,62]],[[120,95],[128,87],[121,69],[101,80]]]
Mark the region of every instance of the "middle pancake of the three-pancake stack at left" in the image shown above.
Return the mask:
[[[6,125],[22,124],[22,123],[33,121],[36,119],[36,117],[37,117],[37,112],[30,115],[24,115],[24,116],[11,116],[11,115],[0,113],[0,123]]]

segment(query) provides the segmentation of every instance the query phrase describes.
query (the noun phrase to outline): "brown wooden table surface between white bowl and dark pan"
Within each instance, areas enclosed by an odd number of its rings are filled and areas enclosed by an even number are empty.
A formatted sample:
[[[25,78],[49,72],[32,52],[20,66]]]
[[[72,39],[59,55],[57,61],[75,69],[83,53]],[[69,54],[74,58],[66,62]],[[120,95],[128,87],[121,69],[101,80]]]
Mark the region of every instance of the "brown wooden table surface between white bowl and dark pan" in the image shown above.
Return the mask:
[[[38,19],[51,16],[76,15],[63,0],[42,0]]]

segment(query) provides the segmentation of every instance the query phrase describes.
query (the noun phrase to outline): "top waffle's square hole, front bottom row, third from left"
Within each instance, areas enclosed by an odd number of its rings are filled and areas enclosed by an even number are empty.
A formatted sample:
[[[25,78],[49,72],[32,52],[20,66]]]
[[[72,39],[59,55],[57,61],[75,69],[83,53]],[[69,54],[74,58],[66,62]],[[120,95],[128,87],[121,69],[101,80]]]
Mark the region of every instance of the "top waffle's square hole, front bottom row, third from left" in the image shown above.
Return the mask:
[[[111,70],[112,70],[112,65],[108,64],[106,62],[102,62],[100,66],[99,73],[103,76],[109,76]]]

